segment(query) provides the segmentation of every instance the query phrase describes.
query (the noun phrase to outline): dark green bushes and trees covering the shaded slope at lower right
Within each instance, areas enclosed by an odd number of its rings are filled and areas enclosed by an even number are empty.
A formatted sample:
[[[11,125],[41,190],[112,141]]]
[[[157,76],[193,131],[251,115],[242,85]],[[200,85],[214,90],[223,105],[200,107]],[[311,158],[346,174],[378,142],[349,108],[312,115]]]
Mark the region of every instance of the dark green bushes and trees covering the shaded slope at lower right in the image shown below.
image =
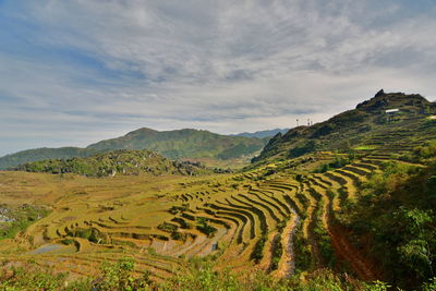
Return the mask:
[[[434,165],[423,169],[386,163],[383,173],[363,184],[359,202],[340,216],[356,244],[365,238],[386,278],[408,289],[435,276]]]

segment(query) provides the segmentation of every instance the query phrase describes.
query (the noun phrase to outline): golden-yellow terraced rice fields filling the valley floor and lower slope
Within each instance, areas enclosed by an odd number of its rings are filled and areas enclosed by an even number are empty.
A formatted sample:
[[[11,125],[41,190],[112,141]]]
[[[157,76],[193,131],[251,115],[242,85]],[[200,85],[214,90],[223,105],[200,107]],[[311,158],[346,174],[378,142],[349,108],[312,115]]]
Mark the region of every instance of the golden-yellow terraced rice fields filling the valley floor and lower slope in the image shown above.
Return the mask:
[[[349,242],[335,214],[356,199],[359,185],[383,162],[413,146],[376,142],[352,163],[317,173],[314,167],[338,154],[196,178],[2,172],[3,202],[49,205],[51,213],[3,240],[0,254],[76,276],[130,255],[137,274],[150,271],[159,280],[189,271],[189,258],[211,255],[218,269],[288,277],[296,269],[348,266],[360,279],[374,280],[376,266]]]

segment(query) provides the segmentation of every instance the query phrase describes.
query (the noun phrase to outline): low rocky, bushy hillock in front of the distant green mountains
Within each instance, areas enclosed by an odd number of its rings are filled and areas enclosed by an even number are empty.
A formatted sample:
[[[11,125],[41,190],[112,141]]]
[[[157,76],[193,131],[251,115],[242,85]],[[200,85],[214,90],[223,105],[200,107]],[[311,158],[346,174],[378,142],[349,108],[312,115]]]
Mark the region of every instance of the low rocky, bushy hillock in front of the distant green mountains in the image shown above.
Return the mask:
[[[47,159],[27,162],[15,168],[19,171],[77,173],[87,177],[107,177],[116,174],[152,175],[183,174],[197,175],[207,170],[199,163],[169,160],[150,150],[118,149],[86,158]]]

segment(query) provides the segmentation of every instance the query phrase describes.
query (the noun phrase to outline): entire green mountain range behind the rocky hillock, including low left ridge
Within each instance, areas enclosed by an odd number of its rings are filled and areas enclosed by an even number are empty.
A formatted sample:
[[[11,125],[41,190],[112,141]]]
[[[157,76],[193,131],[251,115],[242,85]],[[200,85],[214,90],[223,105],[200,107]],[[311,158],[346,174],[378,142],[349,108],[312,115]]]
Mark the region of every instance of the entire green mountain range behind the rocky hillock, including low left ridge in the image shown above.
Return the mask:
[[[155,131],[140,129],[118,138],[101,141],[87,148],[37,148],[19,151],[0,158],[0,170],[19,165],[45,160],[89,157],[111,149],[148,149],[170,159],[211,158],[228,160],[253,156],[267,138],[228,136],[198,130]]]

